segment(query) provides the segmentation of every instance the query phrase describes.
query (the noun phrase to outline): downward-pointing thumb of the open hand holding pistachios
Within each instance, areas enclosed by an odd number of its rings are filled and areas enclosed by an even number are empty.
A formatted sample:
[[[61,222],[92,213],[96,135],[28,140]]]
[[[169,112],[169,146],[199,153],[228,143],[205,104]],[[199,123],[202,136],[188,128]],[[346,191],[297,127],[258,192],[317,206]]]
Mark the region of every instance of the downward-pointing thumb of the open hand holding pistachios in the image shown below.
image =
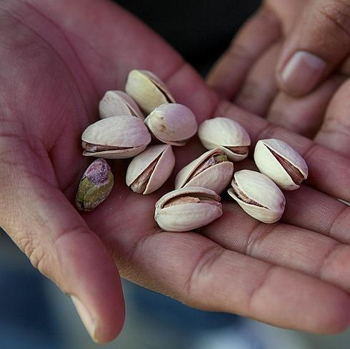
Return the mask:
[[[0,139],[0,225],[34,267],[71,296],[91,338],[112,340],[124,322],[113,259],[56,188],[44,151],[36,147],[33,153],[4,133]]]

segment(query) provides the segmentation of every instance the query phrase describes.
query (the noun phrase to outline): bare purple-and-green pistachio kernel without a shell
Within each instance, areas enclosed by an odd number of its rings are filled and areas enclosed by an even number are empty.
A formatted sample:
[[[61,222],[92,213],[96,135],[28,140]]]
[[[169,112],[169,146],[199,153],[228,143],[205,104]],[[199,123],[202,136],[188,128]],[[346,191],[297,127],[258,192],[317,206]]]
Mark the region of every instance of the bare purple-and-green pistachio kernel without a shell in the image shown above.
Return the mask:
[[[81,178],[76,193],[76,207],[81,211],[92,211],[109,196],[113,184],[109,164],[103,158],[96,159]]]

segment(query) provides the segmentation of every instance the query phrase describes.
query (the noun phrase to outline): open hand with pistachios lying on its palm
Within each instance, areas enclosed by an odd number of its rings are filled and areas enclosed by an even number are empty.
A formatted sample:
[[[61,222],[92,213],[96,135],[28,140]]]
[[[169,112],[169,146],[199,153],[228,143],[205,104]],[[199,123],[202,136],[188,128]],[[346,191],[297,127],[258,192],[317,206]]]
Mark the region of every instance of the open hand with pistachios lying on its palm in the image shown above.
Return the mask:
[[[197,308],[317,333],[347,328],[350,215],[332,196],[350,201],[349,161],[220,101],[119,6],[57,2],[0,5],[0,225],[31,263],[85,305],[94,340],[113,339],[124,321],[115,265],[125,278]],[[108,201],[91,213],[74,209],[89,163],[81,132],[97,119],[104,91],[124,89],[134,68],[164,79],[199,122],[229,116],[253,141],[275,136],[304,154],[309,186],[288,193],[283,223],[266,226],[224,203],[224,216],[197,233],[162,232],[154,203],[170,186],[149,196],[131,193],[123,161],[114,163]],[[199,151],[196,141],[177,149],[177,168]]]

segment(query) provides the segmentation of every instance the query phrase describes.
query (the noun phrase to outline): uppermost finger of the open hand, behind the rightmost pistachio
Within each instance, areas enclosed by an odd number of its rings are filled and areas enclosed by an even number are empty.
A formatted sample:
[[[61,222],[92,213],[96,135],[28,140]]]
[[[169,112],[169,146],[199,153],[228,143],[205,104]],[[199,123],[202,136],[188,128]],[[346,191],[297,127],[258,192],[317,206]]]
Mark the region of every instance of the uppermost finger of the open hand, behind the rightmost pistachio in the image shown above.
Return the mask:
[[[350,201],[350,160],[335,151],[324,148],[304,136],[275,126],[264,118],[243,111],[233,104],[223,101],[217,108],[216,115],[233,118],[249,132],[252,144],[259,139],[279,138],[289,143],[304,157],[309,166],[308,183],[344,201]]]

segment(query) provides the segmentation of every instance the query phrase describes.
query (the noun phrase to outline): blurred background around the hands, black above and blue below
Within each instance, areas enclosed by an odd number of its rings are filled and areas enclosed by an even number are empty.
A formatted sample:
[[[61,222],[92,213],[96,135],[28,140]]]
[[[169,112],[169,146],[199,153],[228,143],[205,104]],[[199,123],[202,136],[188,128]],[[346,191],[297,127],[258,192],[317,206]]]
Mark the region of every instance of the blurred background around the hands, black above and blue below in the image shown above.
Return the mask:
[[[257,0],[116,1],[205,76]],[[234,69],[234,67],[232,67]],[[124,281],[126,323],[104,348],[349,349],[350,331],[321,336],[188,308]],[[93,349],[71,300],[35,270],[0,229],[0,349]],[[321,306],[321,305],[320,305]]]

